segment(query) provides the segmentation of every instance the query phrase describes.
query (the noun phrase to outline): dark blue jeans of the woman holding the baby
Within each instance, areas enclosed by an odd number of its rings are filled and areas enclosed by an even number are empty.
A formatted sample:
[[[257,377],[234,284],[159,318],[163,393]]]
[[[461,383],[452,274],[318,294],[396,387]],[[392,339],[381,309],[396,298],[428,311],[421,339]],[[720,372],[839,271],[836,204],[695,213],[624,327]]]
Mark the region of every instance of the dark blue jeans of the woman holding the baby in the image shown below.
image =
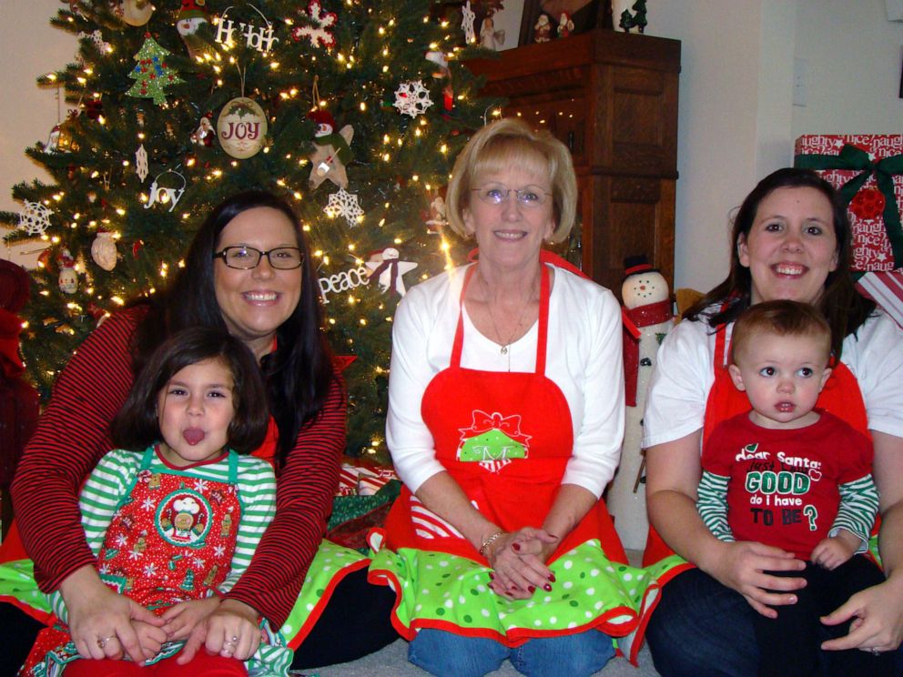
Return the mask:
[[[756,677],[755,613],[704,571],[684,571],[665,585],[646,628],[655,670],[662,677]],[[903,648],[896,653],[903,675]],[[823,656],[829,662],[831,652]]]

